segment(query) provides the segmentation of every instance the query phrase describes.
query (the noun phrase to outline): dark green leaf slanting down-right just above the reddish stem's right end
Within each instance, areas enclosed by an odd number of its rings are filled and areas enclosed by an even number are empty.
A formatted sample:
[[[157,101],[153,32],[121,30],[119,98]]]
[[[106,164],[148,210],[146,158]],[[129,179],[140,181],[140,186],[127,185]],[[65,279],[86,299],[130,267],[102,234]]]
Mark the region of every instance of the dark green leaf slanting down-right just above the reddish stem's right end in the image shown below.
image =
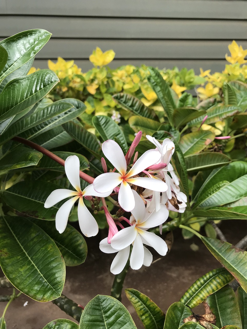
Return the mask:
[[[101,156],[99,155],[99,140],[95,135],[84,129],[78,120],[69,121],[63,124],[63,128],[70,136],[83,145],[96,158],[101,159]]]

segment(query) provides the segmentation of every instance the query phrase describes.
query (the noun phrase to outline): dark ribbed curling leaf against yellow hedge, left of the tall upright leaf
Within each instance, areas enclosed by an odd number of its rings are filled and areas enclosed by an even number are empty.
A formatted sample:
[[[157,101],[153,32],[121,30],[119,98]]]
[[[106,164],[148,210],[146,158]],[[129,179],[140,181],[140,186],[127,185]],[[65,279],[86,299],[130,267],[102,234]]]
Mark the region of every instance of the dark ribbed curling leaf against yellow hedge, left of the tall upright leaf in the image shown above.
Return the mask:
[[[112,96],[117,104],[123,109],[131,111],[134,114],[144,116],[148,119],[157,119],[155,112],[145,106],[138,98],[125,93],[119,93]]]

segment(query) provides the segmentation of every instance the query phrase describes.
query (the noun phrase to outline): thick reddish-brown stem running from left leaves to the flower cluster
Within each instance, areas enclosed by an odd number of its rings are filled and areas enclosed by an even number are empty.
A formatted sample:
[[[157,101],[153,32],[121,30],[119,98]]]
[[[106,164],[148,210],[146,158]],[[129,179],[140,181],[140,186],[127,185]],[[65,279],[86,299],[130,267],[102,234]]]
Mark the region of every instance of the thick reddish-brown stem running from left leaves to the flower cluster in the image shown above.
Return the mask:
[[[22,143],[22,144],[26,144],[26,145],[34,148],[35,150],[43,153],[44,155],[46,155],[47,157],[49,157],[52,160],[56,161],[57,163],[61,164],[62,166],[65,165],[65,161],[63,159],[61,159],[60,157],[58,157],[54,153],[46,150],[46,148],[44,148],[44,147],[42,147],[42,146],[40,146],[40,145],[32,142],[31,140],[27,140],[27,139],[21,138],[21,137],[14,137],[13,140],[15,140],[15,141],[17,141],[19,143]],[[93,177],[87,175],[85,172],[82,172],[81,170],[80,170],[80,177],[82,179],[84,179],[84,181],[86,181],[86,182],[88,182],[90,184],[92,184],[93,181],[94,181],[94,178]]]

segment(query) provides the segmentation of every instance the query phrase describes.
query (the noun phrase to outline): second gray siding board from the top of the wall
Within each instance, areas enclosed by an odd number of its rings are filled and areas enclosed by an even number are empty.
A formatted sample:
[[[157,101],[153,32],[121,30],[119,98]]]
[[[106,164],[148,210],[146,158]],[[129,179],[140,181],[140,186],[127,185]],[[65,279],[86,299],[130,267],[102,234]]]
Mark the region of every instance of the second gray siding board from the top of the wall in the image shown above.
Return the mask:
[[[246,39],[247,21],[49,16],[0,17],[2,36],[42,28],[59,38]]]

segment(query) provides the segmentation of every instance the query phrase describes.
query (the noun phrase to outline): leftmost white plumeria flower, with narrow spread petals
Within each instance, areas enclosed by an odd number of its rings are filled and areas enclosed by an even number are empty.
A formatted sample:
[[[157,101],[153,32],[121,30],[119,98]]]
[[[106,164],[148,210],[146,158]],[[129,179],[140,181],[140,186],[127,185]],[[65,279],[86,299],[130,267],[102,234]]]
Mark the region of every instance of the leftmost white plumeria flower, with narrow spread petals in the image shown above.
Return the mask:
[[[106,197],[110,195],[111,191],[106,193],[98,193],[94,190],[93,184],[87,186],[83,191],[80,187],[80,160],[76,155],[71,155],[65,160],[65,172],[69,179],[70,184],[75,188],[76,191],[58,189],[51,192],[45,201],[44,207],[50,208],[56,203],[73,196],[71,199],[66,201],[58,210],[56,214],[56,229],[59,233],[63,233],[66,229],[69,213],[76,200],[79,199],[78,203],[78,220],[82,233],[86,237],[93,237],[98,233],[98,224],[94,216],[90,213],[88,208],[84,205],[83,196],[94,195],[99,197]]]

